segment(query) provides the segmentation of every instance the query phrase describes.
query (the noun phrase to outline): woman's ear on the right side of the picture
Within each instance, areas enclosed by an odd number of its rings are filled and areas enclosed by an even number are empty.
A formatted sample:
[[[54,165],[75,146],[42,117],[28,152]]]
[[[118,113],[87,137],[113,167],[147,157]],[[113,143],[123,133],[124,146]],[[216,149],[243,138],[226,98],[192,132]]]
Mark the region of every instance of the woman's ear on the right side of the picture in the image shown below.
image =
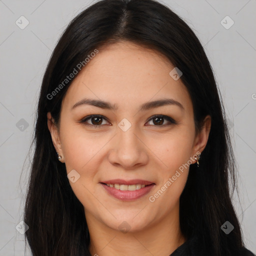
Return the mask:
[[[211,118],[209,115],[206,115],[203,120],[202,128],[194,139],[194,146],[193,146],[194,154],[198,154],[198,152],[201,153],[205,148],[208,141],[208,137],[209,137],[210,126],[211,126]]]

